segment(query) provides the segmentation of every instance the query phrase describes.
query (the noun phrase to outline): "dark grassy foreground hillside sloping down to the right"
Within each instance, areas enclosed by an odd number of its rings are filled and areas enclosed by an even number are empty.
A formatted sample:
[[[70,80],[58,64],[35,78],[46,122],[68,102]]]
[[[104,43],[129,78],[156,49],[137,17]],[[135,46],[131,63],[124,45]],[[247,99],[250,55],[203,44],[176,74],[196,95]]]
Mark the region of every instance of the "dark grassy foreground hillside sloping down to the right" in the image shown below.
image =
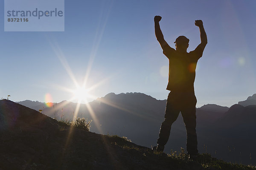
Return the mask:
[[[147,139],[145,139],[147,140]],[[201,155],[153,153],[126,138],[64,126],[38,111],[0,100],[0,170],[255,170]]]

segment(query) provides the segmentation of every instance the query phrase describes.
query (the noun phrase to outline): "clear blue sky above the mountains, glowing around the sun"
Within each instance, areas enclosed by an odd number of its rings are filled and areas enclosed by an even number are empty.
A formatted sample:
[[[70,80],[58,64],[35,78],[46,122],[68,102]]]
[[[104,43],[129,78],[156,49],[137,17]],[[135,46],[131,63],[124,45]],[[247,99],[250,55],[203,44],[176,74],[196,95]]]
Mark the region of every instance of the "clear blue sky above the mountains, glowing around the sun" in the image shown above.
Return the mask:
[[[67,91],[76,89],[74,79],[82,85],[88,75],[88,101],[110,92],[166,99],[169,61],[154,35],[160,15],[165,40],[174,47],[185,35],[188,52],[200,43],[194,22],[203,21],[208,44],[196,69],[197,107],[231,106],[256,93],[255,7],[253,0],[65,0],[64,32],[4,32],[2,12],[0,97],[44,102],[50,94],[61,102],[74,96]]]

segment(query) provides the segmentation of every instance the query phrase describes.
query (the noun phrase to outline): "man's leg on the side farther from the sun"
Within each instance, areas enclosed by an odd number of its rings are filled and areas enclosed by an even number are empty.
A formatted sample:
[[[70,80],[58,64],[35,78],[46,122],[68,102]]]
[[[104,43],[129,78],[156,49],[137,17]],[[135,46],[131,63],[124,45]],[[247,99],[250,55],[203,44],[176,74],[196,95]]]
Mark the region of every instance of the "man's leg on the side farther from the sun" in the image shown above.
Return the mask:
[[[181,110],[181,114],[183,116],[183,121],[186,126],[187,132],[187,144],[186,149],[189,155],[197,155],[197,135],[196,135],[196,115],[195,115],[195,105],[196,105],[196,97],[195,95],[188,95],[186,97],[186,101],[183,103],[183,109]]]

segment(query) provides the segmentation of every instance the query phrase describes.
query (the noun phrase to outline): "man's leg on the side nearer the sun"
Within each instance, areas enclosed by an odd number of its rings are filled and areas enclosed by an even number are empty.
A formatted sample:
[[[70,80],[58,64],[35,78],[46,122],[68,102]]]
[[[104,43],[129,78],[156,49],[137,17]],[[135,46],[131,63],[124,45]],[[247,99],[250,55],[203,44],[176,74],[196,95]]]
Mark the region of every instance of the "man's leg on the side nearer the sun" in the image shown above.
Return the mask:
[[[179,116],[180,110],[177,107],[175,95],[172,92],[169,93],[166,103],[166,111],[164,116],[164,121],[160,128],[159,138],[157,139],[157,144],[160,146],[164,146],[170,136],[172,123],[175,122],[177,117]]]

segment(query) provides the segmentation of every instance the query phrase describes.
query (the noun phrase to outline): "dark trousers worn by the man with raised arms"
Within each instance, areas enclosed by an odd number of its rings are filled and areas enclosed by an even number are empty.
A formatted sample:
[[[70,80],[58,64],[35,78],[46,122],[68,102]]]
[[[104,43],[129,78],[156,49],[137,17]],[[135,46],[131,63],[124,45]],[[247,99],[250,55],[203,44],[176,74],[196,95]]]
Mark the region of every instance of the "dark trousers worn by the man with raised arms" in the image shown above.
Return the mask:
[[[165,145],[169,139],[172,123],[175,122],[179,113],[183,116],[186,126],[187,144],[186,149],[189,155],[198,154],[196,135],[196,97],[194,92],[174,92],[171,91],[167,98],[165,119],[161,125],[157,144]],[[175,136],[173,136],[175,137]]]

